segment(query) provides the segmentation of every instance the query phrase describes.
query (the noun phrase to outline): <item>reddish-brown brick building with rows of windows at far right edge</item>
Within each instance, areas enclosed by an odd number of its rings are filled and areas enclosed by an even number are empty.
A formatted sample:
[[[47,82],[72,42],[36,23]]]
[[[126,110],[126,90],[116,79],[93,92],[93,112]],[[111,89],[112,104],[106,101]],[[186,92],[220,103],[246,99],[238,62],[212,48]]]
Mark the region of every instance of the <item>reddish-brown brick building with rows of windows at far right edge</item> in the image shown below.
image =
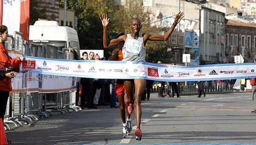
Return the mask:
[[[234,62],[234,56],[242,55],[244,62],[253,62],[256,54],[256,24],[238,20],[225,20],[226,49],[228,63]]]

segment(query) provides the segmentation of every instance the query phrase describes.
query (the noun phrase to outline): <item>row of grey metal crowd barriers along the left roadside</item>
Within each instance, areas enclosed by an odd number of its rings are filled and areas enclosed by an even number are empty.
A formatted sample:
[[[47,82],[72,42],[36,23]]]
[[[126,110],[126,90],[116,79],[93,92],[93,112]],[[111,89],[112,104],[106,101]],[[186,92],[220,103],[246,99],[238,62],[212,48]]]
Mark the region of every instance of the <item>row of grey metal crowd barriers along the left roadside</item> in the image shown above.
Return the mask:
[[[22,37],[23,34],[20,32],[9,35],[7,41],[5,41],[6,49],[35,57],[74,59],[73,48],[59,51],[54,45],[29,43],[24,41]],[[27,77],[29,77],[27,74],[21,76],[24,80],[27,80]],[[76,78],[73,78],[73,81],[76,80]],[[42,81],[43,75],[38,74],[39,89],[42,88]],[[26,81],[24,81],[22,88],[26,88],[26,85]],[[51,112],[66,113],[69,110],[81,110],[81,107],[76,106],[76,89],[60,93],[10,93],[6,105],[4,125],[7,129],[9,129],[8,123],[12,123],[15,126],[30,125],[33,121],[39,119],[38,116],[44,118],[51,115]]]

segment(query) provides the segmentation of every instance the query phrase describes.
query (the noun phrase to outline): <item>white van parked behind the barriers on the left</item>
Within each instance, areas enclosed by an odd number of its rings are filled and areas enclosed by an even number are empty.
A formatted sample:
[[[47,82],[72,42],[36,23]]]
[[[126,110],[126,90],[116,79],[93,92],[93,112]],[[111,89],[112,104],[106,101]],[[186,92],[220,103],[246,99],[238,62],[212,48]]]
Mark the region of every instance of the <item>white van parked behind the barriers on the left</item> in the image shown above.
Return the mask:
[[[29,26],[29,42],[36,44],[51,44],[63,48],[73,47],[80,55],[79,39],[75,29],[69,26],[59,26],[57,21],[39,20]],[[80,57],[80,56],[79,56]]]

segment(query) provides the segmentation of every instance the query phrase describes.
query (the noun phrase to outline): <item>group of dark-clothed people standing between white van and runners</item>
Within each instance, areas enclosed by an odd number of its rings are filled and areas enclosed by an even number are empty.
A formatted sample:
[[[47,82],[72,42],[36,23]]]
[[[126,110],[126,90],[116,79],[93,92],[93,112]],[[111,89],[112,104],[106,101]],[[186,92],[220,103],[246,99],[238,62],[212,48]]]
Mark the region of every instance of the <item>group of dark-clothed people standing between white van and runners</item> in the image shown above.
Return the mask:
[[[102,60],[99,54],[82,53],[81,60]],[[103,59],[104,60],[104,59]],[[113,79],[80,78],[80,106],[82,109],[96,109],[99,105],[119,107]]]

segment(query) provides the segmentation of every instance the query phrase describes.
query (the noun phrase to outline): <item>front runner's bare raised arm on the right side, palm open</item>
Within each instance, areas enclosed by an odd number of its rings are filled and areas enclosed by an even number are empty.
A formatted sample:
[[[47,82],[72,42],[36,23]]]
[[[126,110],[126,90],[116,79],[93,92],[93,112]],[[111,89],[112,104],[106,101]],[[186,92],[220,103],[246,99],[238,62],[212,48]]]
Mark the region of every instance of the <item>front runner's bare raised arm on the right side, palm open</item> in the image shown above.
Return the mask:
[[[178,12],[175,16],[174,23],[172,24],[171,28],[164,34],[164,35],[150,35],[150,34],[145,34],[145,40],[146,41],[167,41],[168,38],[171,36],[173,30],[175,29],[175,26],[177,26],[178,23],[180,23],[180,20],[184,17],[184,12]]]

